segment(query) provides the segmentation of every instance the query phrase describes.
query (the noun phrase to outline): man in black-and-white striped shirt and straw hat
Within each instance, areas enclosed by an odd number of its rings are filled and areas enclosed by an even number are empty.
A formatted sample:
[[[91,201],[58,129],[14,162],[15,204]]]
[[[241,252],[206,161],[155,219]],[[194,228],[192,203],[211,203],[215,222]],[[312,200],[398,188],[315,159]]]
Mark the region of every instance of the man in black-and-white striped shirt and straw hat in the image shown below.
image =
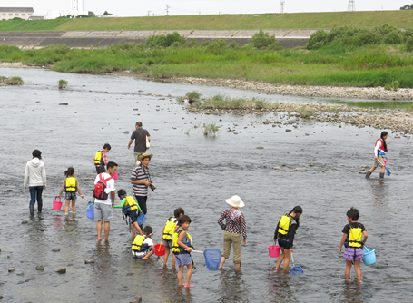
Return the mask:
[[[147,154],[146,152],[139,155],[137,161],[140,161],[140,163],[133,167],[131,174],[133,195],[136,197],[139,207],[144,214],[146,214],[147,211],[146,200],[148,200],[148,187],[152,184],[148,169],[152,156],[152,154]]]

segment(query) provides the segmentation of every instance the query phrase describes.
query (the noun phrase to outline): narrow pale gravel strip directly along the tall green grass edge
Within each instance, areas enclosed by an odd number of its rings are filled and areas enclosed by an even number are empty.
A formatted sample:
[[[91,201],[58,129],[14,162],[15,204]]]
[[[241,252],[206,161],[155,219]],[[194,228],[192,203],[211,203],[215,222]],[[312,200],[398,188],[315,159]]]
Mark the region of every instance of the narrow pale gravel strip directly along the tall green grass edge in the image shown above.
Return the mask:
[[[172,77],[172,83],[191,83],[212,86],[225,86],[242,90],[261,91],[270,94],[294,95],[324,98],[349,98],[369,100],[413,100],[413,89],[401,88],[388,91],[384,87],[337,87],[303,86],[262,83],[231,79],[203,79],[192,77]]]

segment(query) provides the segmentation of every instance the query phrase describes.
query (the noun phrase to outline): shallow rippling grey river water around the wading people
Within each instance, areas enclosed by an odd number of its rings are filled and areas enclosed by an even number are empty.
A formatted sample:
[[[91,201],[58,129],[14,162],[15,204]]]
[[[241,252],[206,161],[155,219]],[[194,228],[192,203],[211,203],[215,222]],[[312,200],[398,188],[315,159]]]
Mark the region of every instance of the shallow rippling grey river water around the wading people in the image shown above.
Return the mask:
[[[129,302],[136,295],[142,295],[143,302],[411,300],[408,230],[413,228],[413,216],[408,188],[413,157],[408,138],[388,139],[390,177],[379,181],[377,171],[365,180],[358,171],[371,165],[381,130],[308,122],[299,122],[297,128],[286,124],[274,128],[262,121],[275,119],[276,114],[188,113],[174,99],[197,90],[203,95],[255,96],[274,102],[323,101],[129,77],[23,69],[0,69],[0,74],[18,75],[28,82],[0,88],[0,294],[5,301]],[[68,90],[57,89],[59,79],[69,82]],[[63,171],[70,165],[85,197],[92,199],[91,161],[105,142],[112,145],[109,160],[119,164],[116,188],[132,192],[128,179],[133,152],[127,150],[130,133],[123,132],[132,132],[136,121],[143,122],[152,138],[150,167],[157,190],[148,198],[147,224],[155,230],[154,239],[161,238],[164,221],[180,206],[192,218],[195,248],[221,250],[222,231],[216,221],[227,209],[224,199],[238,194],[246,204],[242,211],[249,236],[240,272],[233,270],[231,258],[224,270],[209,271],[202,255],[194,253],[196,287],[177,288],[176,271],[162,269],[162,260],[132,258],[132,236],[120,210],[114,211],[110,241],[104,244],[96,242],[95,221],[85,216],[86,200],[79,198],[77,215],[68,218],[64,210],[52,209]],[[211,122],[221,131],[216,137],[204,137],[202,123]],[[239,134],[226,132],[228,128]],[[31,220],[23,174],[34,149],[43,152],[48,188],[44,212]],[[277,166],[281,169],[274,170]],[[276,259],[268,256],[267,246],[280,216],[295,205],[301,205],[304,213],[294,259],[305,273],[292,277],[272,270]],[[378,259],[373,266],[361,265],[362,284],[355,281],[354,271],[351,281],[344,281],[345,261],[338,254],[351,206],[360,210],[360,222],[369,232],[368,247],[376,249]],[[24,220],[28,223],[22,224]],[[85,259],[95,263],[84,264]],[[44,271],[35,269],[40,264]],[[10,267],[15,271],[8,273]],[[54,272],[63,267],[65,274]]]

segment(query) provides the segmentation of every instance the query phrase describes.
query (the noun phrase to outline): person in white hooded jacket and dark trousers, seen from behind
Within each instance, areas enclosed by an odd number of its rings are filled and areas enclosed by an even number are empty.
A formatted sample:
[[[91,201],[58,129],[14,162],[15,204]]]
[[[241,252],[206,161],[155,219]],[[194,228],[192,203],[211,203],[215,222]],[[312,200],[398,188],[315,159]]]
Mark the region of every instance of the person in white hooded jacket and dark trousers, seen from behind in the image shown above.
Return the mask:
[[[46,171],[42,159],[42,152],[34,150],[32,152],[33,159],[25,165],[25,181],[24,186],[27,189],[27,184],[30,191],[30,215],[34,216],[34,203],[37,199],[37,210],[42,212],[42,192],[46,189]]]

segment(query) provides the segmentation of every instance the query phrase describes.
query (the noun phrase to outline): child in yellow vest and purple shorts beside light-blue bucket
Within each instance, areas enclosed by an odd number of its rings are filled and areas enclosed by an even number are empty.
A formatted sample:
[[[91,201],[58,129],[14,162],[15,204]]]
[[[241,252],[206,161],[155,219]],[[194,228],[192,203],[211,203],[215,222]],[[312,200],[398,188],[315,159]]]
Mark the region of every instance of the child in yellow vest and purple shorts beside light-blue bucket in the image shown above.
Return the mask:
[[[355,208],[351,208],[347,211],[347,220],[349,221],[349,224],[347,224],[342,230],[343,238],[339,243],[339,254],[341,254],[341,247],[344,242],[346,242],[347,238],[349,238],[349,247],[344,250],[344,259],[346,259],[346,271],[344,272],[344,275],[346,280],[349,280],[349,271],[351,269],[352,262],[354,262],[354,269],[356,270],[357,279],[361,282],[360,261],[364,258],[362,247],[366,244],[368,235],[364,225],[357,221],[359,220],[359,215],[359,210],[356,210]],[[362,239],[363,235],[364,239]]]

